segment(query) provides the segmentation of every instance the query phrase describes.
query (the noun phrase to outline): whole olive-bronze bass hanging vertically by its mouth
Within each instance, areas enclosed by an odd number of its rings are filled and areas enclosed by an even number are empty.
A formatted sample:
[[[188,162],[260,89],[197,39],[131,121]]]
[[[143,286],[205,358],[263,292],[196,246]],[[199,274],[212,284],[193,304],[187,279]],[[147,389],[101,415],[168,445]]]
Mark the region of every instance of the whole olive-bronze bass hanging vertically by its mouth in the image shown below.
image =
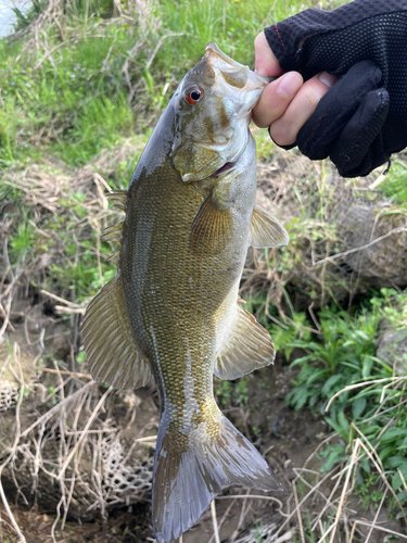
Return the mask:
[[[116,389],[153,377],[161,419],[152,490],[158,543],[193,526],[222,489],[281,488],[266,460],[222,415],[213,376],[270,365],[269,333],[239,298],[249,245],[288,243],[256,206],[251,112],[268,79],[211,42],[157,122],[103,239],[120,245],[116,276],[82,325],[90,371]]]

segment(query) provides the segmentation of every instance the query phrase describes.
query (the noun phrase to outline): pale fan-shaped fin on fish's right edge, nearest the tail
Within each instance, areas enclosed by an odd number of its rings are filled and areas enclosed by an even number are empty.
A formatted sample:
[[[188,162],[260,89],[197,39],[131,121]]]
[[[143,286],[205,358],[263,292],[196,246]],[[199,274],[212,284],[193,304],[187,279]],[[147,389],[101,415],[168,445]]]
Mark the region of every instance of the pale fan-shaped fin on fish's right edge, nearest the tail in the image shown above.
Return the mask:
[[[272,364],[275,354],[268,331],[251,313],[237,305],[234,319],[215,362],[214,374],[220,379],[238,379]]]

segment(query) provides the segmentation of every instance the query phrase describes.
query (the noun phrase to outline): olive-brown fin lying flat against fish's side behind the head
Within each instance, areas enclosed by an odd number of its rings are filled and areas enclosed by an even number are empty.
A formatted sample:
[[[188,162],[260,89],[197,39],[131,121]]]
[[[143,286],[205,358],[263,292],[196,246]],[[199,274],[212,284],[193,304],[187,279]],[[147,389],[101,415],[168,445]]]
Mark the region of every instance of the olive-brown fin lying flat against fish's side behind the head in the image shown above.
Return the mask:
[[[230,242],[232,218],[229,210],[220,210],[213,191],[202,202],[189,235],[189,248],[198,254],[219,254]]]

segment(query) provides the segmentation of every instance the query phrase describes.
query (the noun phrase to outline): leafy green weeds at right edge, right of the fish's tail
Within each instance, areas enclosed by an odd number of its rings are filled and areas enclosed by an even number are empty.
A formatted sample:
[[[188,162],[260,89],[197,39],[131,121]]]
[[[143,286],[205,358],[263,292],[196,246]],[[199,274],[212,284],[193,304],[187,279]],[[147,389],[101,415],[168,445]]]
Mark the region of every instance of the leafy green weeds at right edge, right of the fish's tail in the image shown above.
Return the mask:
[[[347,446],[355,439],[353,422],[378,452],[392,488],[403,503],[407,501],[406,383],[403,377],[393,376],[390,363],[376,356],[376,339],[383,315],[398,325],[404,320],[405,293],[383,289],[382,294],[371,300],[370,313],[365,310],[355,317],[344,312],[322,311],[319,314],[321,341],[300,339],[290,343],[306,354],[291,364],[301,370],[287,402],[295,409],[307,405],[325,416],[342,438],[320,454],[326,460],[322,471],[347,458]],[[327,402],[335,394],[338,397],[326,416]],[[373,503],[380,495],[367,490],[374,482],[370,470],[368,459],[361,458],[356,480],[360,496],[366,494],[365,502]]]

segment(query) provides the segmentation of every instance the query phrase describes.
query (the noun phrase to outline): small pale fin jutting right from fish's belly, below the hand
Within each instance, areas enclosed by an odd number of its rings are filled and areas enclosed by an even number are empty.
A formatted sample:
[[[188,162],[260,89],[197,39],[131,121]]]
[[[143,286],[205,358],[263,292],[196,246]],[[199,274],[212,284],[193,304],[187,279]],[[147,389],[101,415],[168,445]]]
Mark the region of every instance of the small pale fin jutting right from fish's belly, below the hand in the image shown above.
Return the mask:
[[[289,235],[276,217],[257,205],[250,224],[249,244],[257,249],[287,245]]]

